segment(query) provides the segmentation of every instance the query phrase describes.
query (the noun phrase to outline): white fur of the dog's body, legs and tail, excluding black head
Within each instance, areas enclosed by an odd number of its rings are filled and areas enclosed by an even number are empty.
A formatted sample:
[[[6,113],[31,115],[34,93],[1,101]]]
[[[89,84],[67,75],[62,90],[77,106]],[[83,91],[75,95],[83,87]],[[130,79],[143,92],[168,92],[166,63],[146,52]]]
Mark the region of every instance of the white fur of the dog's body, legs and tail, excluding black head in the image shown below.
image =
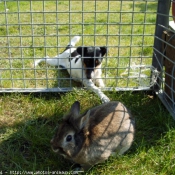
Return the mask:
[[[65,50],[63,53],[55,56],[54,58],[49,58],[48,56],[39,60],[36,60],[34,62],[34,67],[36,67],[40,62],[45,61],[51,66],[61,66],[67,69],[70,76],[75,81],[80,81],[83,83],[85,87],[95,92],[103,103],[109,102],[109,98],[97,87],[105,87],[103,80],[101,78],[101,64],[95,68],[95,71],[93,72],[92,79],[87,79],[84,69],[84,65],[82,63],[82,59],[78,59],[76,56],[74,58],[70,59],[71,53],[73,53],[76,48],[74,47],[75,44],[80,40],[80,36],[75,36],[71,39],[71,42],[68,44],[71,46],[71,48]],[[77,59],[77,61],[75,61]],[[95,84],[97,86],[95,86]]]

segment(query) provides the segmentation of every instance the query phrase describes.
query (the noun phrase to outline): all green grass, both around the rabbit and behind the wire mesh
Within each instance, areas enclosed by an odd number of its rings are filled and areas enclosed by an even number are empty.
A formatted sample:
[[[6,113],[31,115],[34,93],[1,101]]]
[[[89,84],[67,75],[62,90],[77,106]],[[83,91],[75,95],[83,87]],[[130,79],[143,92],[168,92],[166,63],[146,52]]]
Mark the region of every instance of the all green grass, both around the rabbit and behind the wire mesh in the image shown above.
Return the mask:
[[[99,13],[96,14],[97,21],[94,21],[95,13],[88,12],[95,10],[95,4],[84,1],[84,25],[82,25],[79,24],[82,22],[81,1],[78,3],[72,1],[72,12],[79,13],[71,13],[71,22],[77,25],[71,25],[69,28],[69,2],[59,1],[56,8],[54,1],[46,1],[44,5],[46,25],[43,24],[42,13],[33,13],[33,24],[37,24],[32,26],[35,36],[32,38],[31,25],[28,25],[31,15],[28,12],[42,12],[41,2],[32,1],[31,9],[29,1],[19,2],[20,12],[24,12],[20,14],[21,25],[14,25],[18,23],[18,13],[10,13],[18,11],[17,2],[7,2],[8,24],[10,24],[8,33],[5,25],[0,26],[0,88],[11,88],[12,84],[15,88],[45,88],[47,85],[52,88],[57,87],[58,84],[60,87],[68,87],[69,80],[59,79],[69,77],[66,71],[55,69],[45,63],[40,64],[38,70],[31,69],[33,59],[46,55],[55,56],[61,51],[62,49],[57,48],[57,41],[59,46],[65,46],[69,37],[57,36],[67,34],[84,35],[83,41],[81,40],[78,45],[94,45],[94,36],[91,35],[103,35],[95,38],[95,45],[110,46],[108,53],[110,58],[103,63],[103,67],[106,68],[103,76],[109,78],[105,82],[107,86],[133,87],[144,83],[147,85],[148,80],[145,79],[129,80],[128,83],[126,68],[130,63],[131,65],[151,64],[153,37],[145,35],[143,38],[143,34],[154,34],[155,14],[146,13],[144,18],[142,12],[145,9],[155,12],[156,3],[150,2],[148,6],[145,6],[145,2],[122,1],[122,5],[120,3],[110,1],[108,4],[105,1],[97,1],[96,10]],[[0,3],[0,11],[4,12],[4,6],[1,4],[4,3]],[[132,13],[127,13],[133,11],[133,4],[137,12],[134,18]],[[105,12],[108,5],[110,11],[114,13],[110,13],[109,16],[100,13],[100,11]],[[55,12],[56,9],[59,12],[66,12],[58,14],[59,22],[56,21],[56,13],[47,13]],[[120,10],[121,15],[117,13]],[[107,18],[110,22],[108,26],[105,24]],[[144,21],[153,25],[142,25]],[[94,26],[94,22],[98,22],[99,25]],[[122,25],[118,24],[119,22]],[[0,24],[5,23],[5,13],[1,13]],[[57,25],[57,23],[65,25]],[[139,25],[132,25],[132,23]],[[131,33],[138,36],[130,36]],[[108,36],[108,34],[116,36]],[[7,35],[10,36],[8,39]],[[23,35],[22,39],[20,35]],[[13,48],[16,46],[23,46],[23,48]],[[51,48],[45,48],[46,46]],[[139,71],[135,70],[134,73]],[[150,70],[143,70],[142,73],[149,76]],[[46,80],[46,76],[52,79]],[[116,77],[121,79],[115,80]],[[75,82],[72,85],[81,86]],[[131,110],[136,119],[135,140],[126,154],[111,157],[106,162],[94,166],[87,174],[175,174],[175,122],[160,100],[144,92],[114,91],[105,94],[111,100],[123,102]],[[15,174],[15,171],[58,171],[58,173],[70,171],[73,164],[52,152],[50,140],[55,133],[57,122],[75,100],[80,101],[81,112],[101,103],[92,92],[77,89],[65,94],[0,94],[0,174],[1,172]]]

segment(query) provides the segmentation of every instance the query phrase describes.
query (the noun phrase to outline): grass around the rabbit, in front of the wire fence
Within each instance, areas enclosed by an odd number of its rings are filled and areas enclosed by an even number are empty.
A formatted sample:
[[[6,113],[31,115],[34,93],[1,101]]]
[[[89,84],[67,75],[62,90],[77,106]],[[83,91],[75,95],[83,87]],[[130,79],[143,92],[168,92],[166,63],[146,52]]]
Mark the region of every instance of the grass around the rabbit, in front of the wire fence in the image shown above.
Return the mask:
[[[94,166],[87,174],[175,173],[175,122],[158,98],[131,92],[106,93],[123,102],[136,120],[131,149]],[[79,100],[81,112],[99,105],[89,91],[66,94],[5,94],[0,96],[0,170],[70,171],[72,163],[53,153],[50,139],[57,122]]]

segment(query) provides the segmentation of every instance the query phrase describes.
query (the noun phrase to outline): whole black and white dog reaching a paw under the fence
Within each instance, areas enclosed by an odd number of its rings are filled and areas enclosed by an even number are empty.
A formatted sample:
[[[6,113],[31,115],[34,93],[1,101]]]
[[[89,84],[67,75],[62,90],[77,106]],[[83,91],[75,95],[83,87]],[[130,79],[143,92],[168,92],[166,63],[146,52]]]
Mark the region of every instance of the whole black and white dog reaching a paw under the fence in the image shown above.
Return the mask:
[[[101,78],[101,62],[107,48],[93,46],[75,48],[74,46],[79,40],[80,36],[75,36],[61,54],[54,58],[46,57],[36,60],[34,66],[46,61],[49,65],[66,68],[75,81],[82,82],[85,87],[95,92],[102,102],[109,102],[109,98],[98,88],[104,87]]]

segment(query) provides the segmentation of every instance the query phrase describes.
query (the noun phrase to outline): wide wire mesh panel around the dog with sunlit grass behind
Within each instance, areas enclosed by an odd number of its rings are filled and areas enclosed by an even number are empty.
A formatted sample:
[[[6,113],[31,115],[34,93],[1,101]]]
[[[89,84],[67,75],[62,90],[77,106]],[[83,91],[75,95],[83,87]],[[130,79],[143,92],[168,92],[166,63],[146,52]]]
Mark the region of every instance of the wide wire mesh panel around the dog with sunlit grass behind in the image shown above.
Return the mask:
[[[107,46],[102,90],[148,90],[157,1],[10,1],[0,3],[0,92],[82,88],[66,70],[34,61],[77,46]],[[157,77],[155,77],[157,78]]]

